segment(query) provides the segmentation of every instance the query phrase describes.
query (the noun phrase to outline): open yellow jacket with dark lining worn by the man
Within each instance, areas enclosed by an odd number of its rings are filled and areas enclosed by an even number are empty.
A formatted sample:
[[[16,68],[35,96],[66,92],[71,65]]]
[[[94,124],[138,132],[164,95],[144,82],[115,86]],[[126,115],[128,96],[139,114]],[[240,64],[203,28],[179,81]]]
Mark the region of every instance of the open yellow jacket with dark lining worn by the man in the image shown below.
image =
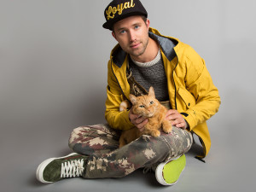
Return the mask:
[[[212,83],[205,61],[188,44],[176,38],[162,36],[160,32],[149,28],[149,37],[160,44],[170,102],[173,109],[183,114],[189,124],[189,131],[194,132],[204,148],[204,158],[211,147],[207,119],[218,112],[220,97],[218,89]],[[175,54],[170,51],[170,42],[174,42]],[[105,118],[114,129],[127,130],[131,124],[129,111],[119,112],[119,104],[129,98],[130,85],[125,71],[128,56],[117,44],[108,61],[108,87]]]

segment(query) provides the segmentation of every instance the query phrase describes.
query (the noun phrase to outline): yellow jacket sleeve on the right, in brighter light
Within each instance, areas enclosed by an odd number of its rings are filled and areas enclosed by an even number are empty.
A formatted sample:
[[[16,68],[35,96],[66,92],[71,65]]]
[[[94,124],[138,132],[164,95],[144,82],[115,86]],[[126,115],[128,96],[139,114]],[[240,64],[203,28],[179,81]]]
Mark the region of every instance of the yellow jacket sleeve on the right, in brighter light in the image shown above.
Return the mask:
[[[210,119],[213,114],[218,112],[220,97],[218,89],[212,83],[212,78],[207,70],[205,61],[198,55],[194,49],[189,47],[184,53],[184,68],[186,75],[183,78],[185,89],[179,92],[189,91],[187,99],[187,110],[183,111],[183,117],[189,123],[189,131],[192,131],[196,125]],[[184,99],[186,100],[186,99]]]

